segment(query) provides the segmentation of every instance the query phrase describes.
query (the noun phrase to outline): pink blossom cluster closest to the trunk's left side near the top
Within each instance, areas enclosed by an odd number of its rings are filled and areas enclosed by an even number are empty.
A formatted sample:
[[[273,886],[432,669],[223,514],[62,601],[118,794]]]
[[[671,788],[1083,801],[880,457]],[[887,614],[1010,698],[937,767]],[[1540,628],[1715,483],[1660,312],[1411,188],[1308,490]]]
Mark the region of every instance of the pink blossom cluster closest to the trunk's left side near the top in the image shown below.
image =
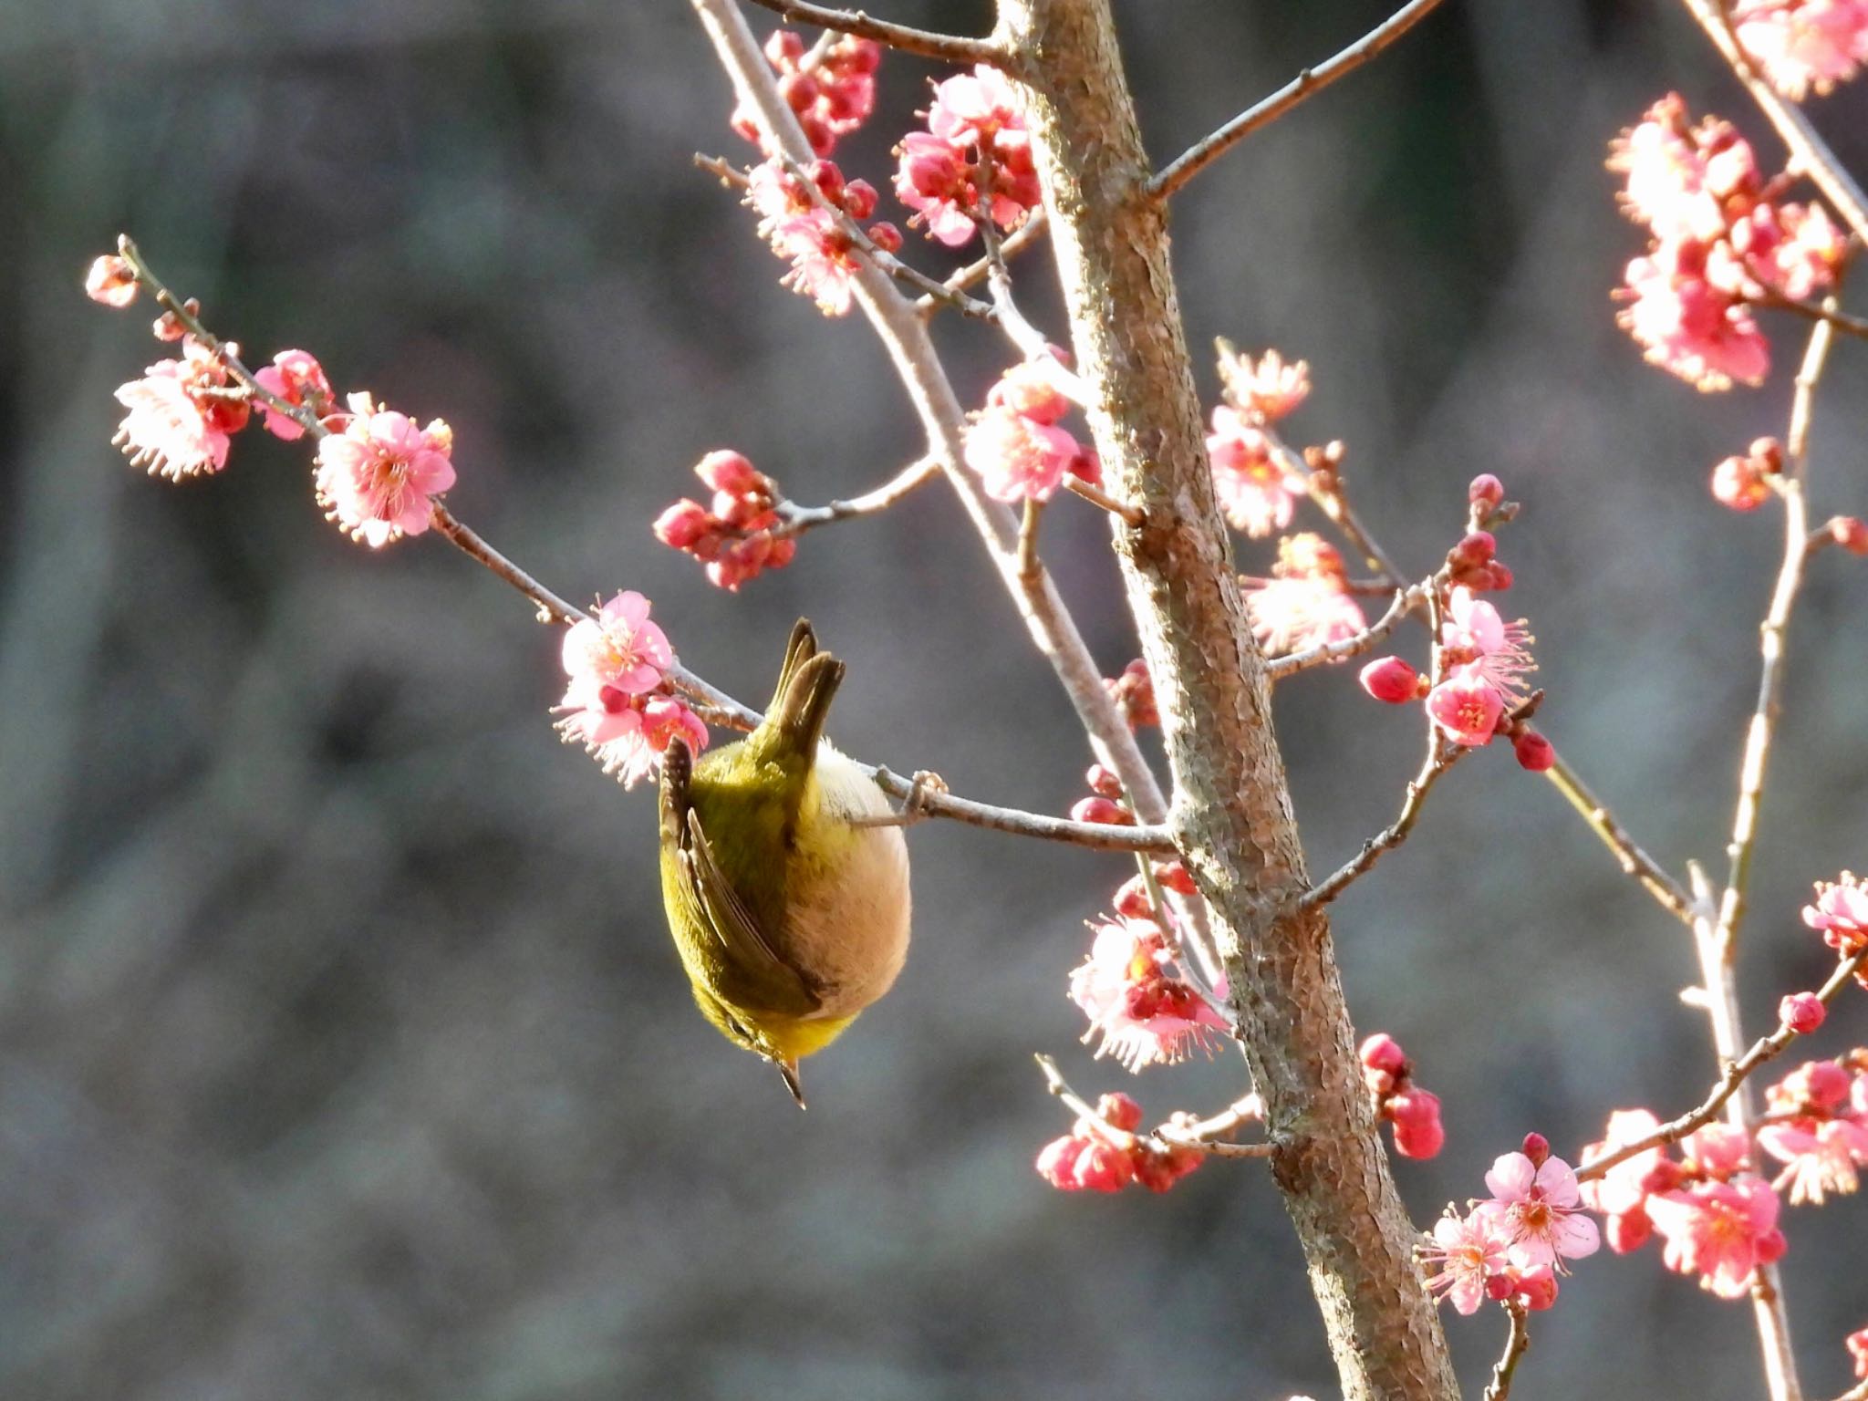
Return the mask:
[[[910,224],[958,248],[986,217],[981,192],[990,191],[992,222],[1018,228],[1039,205],[1039,172],[1031,164],[1031,136],[1012,99],[1012,86],[996,67],[934,88],[928,129],[912,131],[895,148],[895,196],[913,209]]]

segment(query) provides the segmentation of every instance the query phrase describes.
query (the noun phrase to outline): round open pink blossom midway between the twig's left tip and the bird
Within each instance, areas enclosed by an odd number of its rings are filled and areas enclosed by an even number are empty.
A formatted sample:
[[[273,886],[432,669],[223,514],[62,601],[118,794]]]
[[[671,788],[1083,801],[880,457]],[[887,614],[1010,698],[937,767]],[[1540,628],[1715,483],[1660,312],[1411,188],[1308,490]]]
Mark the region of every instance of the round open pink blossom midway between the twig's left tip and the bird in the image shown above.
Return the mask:
[[[433,418],[426,428],[394,409],[349,396],[344,432],[318,441],[318,502],[346,534],[381,549],[422,534],[435,497],[454,486],[454,432]]]

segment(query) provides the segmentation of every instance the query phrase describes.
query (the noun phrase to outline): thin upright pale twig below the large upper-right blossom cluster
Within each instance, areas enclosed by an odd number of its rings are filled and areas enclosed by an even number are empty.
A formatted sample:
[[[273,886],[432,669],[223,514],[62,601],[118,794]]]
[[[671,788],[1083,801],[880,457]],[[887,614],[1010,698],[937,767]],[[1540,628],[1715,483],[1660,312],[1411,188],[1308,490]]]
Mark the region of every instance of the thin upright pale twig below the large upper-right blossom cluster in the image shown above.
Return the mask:
[[[1803,564],[1810,553],[1810,512],[1806,502],[1808,484],[1808,439],[1810,413],[1816,402],[1816,383],[1823,374],[1823,361],[1834,333],[1827,321],[1818,321],[1810,329],[1810,346],[1797,370],[1797,392],[1790,411],[1790,433],[1786,452],[1786,473],[1780,476],[1778,495],[1784,497],[1784,564],[1776,573],[1776,588],[1771,592],[1771,607],[1760,630],[1760,652],[1763,667],[1758,674],[1758,704],[1752,708],[1750,725],[1745,734],[1745,758],[1739,764],[1739,800],[1732,814],[1732,842],[1726,856],[1732,861],[1726,874],[1726,893],[1719,902],[1717,938],[1720,955],[1734,958],[1734,940],[1739,921],[1745,917],[1745,891],[1750,884],[1752,852],[1758,844],[1758,803],[1763,796],[1765,764],[1771,758],[1771,736],[1784,693],[1784,633],[1790,628],[1790,613],[1797,603],[1797,590],[1803,587]]]

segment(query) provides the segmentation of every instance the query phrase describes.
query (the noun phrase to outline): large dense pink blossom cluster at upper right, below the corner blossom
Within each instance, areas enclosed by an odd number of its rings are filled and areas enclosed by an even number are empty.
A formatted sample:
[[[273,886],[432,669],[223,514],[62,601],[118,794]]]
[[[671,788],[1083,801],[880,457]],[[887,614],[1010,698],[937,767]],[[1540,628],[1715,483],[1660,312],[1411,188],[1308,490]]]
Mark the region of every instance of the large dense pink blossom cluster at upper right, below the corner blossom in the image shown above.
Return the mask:
[[[1610,146],[1627,176],[1623,211],[1648,226],[1646,256],[1627,267],[1618,319],[1648,361],[1702,390],[1758,385],[1771,349],[1752,303],[1803,299],[1834,282],[1847,239],[1818,204],[1782,200],[1728,121],[1687,120],[1668,93]]]

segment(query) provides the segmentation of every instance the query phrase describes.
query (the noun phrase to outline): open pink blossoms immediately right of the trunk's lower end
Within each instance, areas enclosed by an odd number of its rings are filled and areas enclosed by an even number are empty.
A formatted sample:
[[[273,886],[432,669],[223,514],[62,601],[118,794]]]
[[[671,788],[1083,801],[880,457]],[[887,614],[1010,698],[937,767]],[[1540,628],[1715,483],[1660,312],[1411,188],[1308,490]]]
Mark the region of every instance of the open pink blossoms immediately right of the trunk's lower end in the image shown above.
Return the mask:
[[[1487,1298],[1550,1308],[1564,1261],[1601,1246],[1601,1231],[1580,1210],[1575,1171],[1550,1156],[1543,1134],[1528,1134],[1522,1153],[1493,1162],[1485,1186],[1491,1197],[1468,1203],[1466,1214],[1448,1207],[1422,1242],[1427,1289],[1461,1313],[1478,1313]]]

